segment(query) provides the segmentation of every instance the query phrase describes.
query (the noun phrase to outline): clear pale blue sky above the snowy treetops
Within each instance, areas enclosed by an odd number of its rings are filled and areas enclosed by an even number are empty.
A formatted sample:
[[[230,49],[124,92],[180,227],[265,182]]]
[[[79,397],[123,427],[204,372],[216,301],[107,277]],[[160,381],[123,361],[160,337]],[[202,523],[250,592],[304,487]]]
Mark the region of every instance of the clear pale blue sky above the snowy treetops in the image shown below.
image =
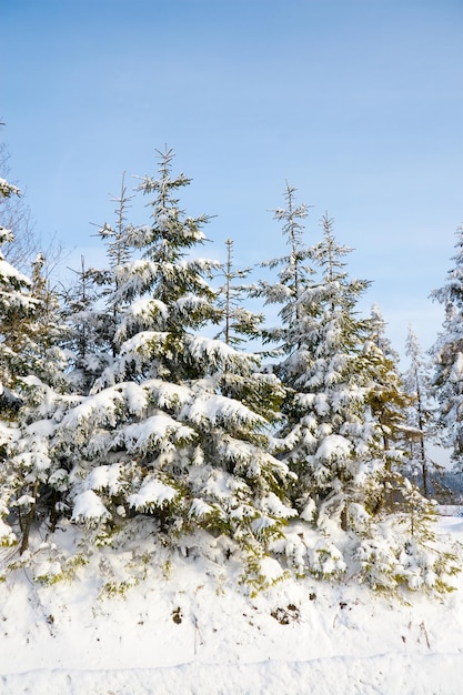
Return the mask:
[[[389,336],[423,349],[463,221],[462,0],[0,0],[1,138],[44,239],[101,251],[122,172],[154,149],[193,179],[189,214],[238,264],[285,251],[285,181],[373,281]],[[148,211],[133,210],[134,222]]]

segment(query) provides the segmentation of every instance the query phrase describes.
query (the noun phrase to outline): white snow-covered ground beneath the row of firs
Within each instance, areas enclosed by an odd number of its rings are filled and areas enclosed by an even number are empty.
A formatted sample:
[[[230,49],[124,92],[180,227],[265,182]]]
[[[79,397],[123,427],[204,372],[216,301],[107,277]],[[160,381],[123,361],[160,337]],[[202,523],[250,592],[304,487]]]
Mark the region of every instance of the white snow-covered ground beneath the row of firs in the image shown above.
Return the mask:
[[[462,517],[439,523],[463,543]],[[109,596],[84,570],[73,583],[20,572],[0,585],[1,694],[463,692],[462,575],[442,600],[397,601],[313,580],[250,597],[181,557],[169,577],[150,570]]]

